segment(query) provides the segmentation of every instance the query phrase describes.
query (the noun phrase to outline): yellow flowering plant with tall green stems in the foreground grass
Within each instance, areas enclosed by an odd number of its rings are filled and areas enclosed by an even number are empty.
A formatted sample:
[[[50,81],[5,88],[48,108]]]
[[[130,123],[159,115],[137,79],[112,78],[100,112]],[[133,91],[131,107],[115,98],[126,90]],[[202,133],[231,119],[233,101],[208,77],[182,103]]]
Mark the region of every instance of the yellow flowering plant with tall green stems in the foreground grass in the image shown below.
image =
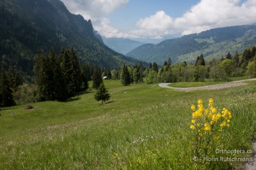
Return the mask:
[[[218,112],[214,107],[214,99],[209,99],[207,108],[204,108],[203,100],[198,99],[197,108],[191,104],[191,125],[189,128],[195,133],[195,157],[196,162],[206,157],[209,148],[214,141],[219,139],[223,129],[229,127],[232,115],[230,111],[223,108]]]

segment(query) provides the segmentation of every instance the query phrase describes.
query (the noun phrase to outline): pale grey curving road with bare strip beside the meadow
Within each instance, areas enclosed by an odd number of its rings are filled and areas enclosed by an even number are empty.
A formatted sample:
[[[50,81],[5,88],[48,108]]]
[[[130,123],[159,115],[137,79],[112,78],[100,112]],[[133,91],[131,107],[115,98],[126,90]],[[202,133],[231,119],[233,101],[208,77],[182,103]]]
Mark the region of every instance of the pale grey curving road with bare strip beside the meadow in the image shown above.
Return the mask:
[[[242,85],[246,85],[246,83],[243,83],[243,81],[253,81],[253,80],[256,80],[256,78],[251,78],[248,80],[232,81],[230,83],[221,83],[221,84],[217,84],[217,85],[205,85],[205,86],[200,86],[200,87],[186,87],[186,88],[170,87],[169,85],[172,83],[159,83],[158,85],[159,85],[159,87],[163,87],[163,88],[189,92],[189,91],[193,91],[193,90],[216,90],[216,89],[224,89],[224,88],[228,88],[228,87],[239,87]]]

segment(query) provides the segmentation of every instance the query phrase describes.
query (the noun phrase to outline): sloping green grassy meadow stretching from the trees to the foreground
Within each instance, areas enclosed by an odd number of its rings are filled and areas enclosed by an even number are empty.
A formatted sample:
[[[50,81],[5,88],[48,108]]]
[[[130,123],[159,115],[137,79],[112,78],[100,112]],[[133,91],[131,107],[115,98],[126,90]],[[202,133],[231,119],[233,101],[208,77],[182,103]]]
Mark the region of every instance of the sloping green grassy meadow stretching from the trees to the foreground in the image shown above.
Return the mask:
[[[157,85],[104,81],[111,98],[100,106],[95,91],[65,103],[31,103],[1,108],[0,169],[239,169],[245,162],[195,164],[191,104],[213,97],[232,112],[216,147],[252,150],[256,131],[256,82],[222,90],[179,92]],[[15,113],[14,115],[10,113]],[[216,153],[211,157],[250,157]]]

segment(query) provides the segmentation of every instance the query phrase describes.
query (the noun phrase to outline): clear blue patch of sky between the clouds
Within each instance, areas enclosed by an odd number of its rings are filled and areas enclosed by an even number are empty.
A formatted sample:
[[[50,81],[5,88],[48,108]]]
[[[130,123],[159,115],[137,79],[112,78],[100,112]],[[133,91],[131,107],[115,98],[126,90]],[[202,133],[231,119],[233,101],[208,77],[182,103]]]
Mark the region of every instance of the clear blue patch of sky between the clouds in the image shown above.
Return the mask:
[[[188,11],[198,0],[183,1],[173,0],[130,0],[126,6],[113,11],[109,15],[111,25],[120,29],[132,29],[140,18],[154,15],[156,11],[165,11],[172,17],[180,17]]]

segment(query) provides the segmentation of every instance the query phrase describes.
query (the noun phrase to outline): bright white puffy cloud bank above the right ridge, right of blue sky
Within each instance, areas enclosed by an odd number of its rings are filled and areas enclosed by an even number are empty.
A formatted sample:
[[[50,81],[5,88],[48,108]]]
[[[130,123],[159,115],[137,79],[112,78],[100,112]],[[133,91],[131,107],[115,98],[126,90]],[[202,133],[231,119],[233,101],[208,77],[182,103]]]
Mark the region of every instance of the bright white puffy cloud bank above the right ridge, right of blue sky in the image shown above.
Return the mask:
[[[136,35],[162,38],[168,34],[191,34],[216,27],[252,24],[256,22],[256,0],[201,0],[182,17],[172,18],[164,11],[141,18]]]

